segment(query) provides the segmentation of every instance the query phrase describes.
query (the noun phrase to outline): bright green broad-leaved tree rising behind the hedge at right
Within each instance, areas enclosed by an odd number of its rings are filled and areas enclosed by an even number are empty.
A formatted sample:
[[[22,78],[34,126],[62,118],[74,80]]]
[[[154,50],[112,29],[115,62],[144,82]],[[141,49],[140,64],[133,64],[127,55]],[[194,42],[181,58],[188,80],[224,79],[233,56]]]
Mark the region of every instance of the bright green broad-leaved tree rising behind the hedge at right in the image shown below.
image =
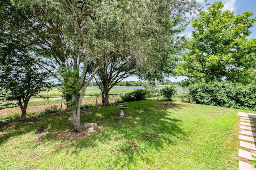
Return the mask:
[[[192,40],[180,65],[190,81],[229,80],[248,84],[255,80],[256,39],[249,39],[256,21],[252,12],[234,15],[215,2],[192,21]]]

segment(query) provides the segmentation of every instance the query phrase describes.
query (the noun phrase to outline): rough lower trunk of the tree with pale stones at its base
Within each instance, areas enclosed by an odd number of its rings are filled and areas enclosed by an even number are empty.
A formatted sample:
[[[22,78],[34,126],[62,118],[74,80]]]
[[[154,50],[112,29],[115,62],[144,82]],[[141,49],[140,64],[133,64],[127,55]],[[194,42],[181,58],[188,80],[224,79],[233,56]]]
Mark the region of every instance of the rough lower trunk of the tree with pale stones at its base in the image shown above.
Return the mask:
[[[77,104],[77,93],[72,94],[72,100],[76,101]],[[72,107],[72,106],[71,106]],[[74,126],[74,129],[76,132],[81,132],[84,130],[84,125],[80,123],[80,107],[72,107],[72,113],[73,115],[68,119],[70,123]]]

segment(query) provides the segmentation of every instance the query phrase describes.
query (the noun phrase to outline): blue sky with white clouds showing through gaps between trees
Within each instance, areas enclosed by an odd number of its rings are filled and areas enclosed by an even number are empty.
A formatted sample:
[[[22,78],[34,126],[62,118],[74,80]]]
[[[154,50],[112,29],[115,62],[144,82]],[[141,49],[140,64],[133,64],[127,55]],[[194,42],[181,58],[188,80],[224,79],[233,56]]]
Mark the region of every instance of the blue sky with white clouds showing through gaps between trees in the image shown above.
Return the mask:
[[[208,7],[206,6],[206,3],[204,2],[204,0],[197,0],[197,2],[202,6],[204,6],[204,10],[206,10],[209,7],[209,6]],[[209,2],[211,6],[214,2],[216,2],[216,0],[207,0],[207,2]],[[242,14],[246,11],[252,11],[253,12],[252,17],[256,17],[256,0],[222,0],[222,3],[224,4],[223,10],[234,11],[235,15]],[[193,30],[192,26],[189,25],[187,29],[184,31],[184,33],[182,34],[186,34],[188,35],[188,37],[191,37],[192,30]],[[256,23],[254,23],[254,27],[252,27],[251,30],[252,30],[252,33],[248,37],[248,39],[256,38]],[[171,80],[172,82],[177,82],[177,81],[184,80],[185,78],[186,77],[178,77],[178,78],[170,77],[168,79]],[[132,77],[132,76],[129,78],[126,78],[124,81],[132,81],[132,80],[138,81],[136,77]]]

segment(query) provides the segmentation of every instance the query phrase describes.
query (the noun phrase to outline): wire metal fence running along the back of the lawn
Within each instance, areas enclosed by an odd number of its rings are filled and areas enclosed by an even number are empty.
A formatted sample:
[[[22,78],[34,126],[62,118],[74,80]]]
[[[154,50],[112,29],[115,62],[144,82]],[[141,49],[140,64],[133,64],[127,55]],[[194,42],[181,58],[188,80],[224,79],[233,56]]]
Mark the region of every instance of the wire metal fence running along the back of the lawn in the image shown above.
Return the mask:
[[[174,96],[174,100],[186,101],[187,100],[188,90],[179,89],[177,91],[176,96]],[[109,103],[118,103],[121,102],[122,96],[121,94],[109,94]],[[163,96],[160,94],[160,90],[148,90],[147,91],[147,99],[149,100],[163,100]],[[15,101],[13,102],[15,103]],[[3,106],[3,103],[2,103]],[[99,107],[102,106],[102,97],[101,95],[90,95],[84,96],[82,100],[82,108],[90,108],[90,107]],[[36,115],[44,114],[45,111],[49,111],[51,109],[58,109],[58,111],[62,111],[66,109],[66,99],[64,97],[49,97],[49,98],[31,98],[28,107],[27,107],[27,115],[28,117],[34,117]],[[12,107],[0,107],[0,120],[9,115],[20,115],[21,109],[16,105]]]

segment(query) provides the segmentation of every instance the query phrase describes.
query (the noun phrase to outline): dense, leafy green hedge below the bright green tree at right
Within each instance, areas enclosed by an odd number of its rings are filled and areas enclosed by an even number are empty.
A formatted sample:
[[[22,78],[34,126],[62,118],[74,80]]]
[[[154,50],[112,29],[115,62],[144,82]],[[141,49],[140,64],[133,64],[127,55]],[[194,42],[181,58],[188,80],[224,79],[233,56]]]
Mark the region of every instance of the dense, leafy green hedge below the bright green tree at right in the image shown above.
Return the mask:
[[[189,90],[191,103],[256,110],[256,82],[197,82]]]

